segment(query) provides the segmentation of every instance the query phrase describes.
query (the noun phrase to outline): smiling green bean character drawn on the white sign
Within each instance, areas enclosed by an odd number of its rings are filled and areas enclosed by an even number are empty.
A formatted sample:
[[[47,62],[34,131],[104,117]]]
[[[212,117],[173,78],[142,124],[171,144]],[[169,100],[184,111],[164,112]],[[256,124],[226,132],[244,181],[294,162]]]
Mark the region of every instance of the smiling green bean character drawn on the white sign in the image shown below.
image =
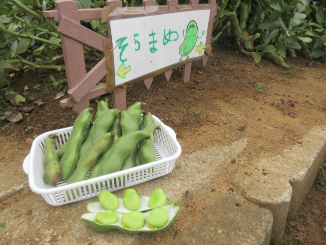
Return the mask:
[[[182,32],[184,34],[184,30]],[[202,36],[204,33],[205,30],[202,31]],[[180,61],[182,61],[182,56],[187,56],[187,59],[189,58],[188,54],[194,49],[197,39],[201,37],[198,37],[198,25],[196,21],[191,20],[187,25],[186,35],[184,35],[185,39],[179,47]]]

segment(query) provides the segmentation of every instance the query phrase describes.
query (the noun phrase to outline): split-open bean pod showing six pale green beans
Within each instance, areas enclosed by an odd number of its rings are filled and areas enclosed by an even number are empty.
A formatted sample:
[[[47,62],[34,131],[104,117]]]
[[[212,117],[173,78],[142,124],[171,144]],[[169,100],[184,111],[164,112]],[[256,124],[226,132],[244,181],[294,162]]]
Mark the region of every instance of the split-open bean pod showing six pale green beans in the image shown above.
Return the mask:
[[[180,211],[177,202],[167,202],[161,188],[151,196],[139,196],[135,189],[126,189],[123,198],[103,190],[97,198],[99,201],[88,203],[88,212],[80,218],[99,231],[158,232],[166,229]]]

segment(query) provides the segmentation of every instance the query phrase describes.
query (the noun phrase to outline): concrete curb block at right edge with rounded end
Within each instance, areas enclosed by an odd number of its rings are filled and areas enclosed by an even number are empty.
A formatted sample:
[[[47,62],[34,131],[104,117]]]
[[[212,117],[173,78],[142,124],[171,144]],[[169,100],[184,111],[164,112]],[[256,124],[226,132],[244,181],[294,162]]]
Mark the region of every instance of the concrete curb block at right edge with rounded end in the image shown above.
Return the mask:
[[[240,169],[234,187],[246,199],[273,212],[272,234],[281,240],[288,215],[295,215],[326,155],[325,127],[316,127],[282,155]]]

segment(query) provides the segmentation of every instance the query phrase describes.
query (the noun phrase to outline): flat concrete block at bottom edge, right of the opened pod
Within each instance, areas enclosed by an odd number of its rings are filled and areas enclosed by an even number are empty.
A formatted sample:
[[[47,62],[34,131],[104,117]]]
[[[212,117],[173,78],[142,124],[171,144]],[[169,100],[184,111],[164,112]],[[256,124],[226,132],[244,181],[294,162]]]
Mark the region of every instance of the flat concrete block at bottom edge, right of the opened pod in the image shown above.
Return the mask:
[[[218,194],[195,227],[188,226],[172,241],[174,245],[225,244],[269,245],[273,215],[224,192]]]

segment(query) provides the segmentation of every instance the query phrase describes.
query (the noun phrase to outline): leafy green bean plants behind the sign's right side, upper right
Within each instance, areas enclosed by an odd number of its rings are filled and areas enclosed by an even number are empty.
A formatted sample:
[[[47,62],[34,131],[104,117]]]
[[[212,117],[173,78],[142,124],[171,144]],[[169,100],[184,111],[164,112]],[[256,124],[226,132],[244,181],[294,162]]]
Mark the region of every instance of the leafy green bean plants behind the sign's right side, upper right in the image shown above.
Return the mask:
[[[238,15],[240,23],[245,21],[246,29],[259,16],[259,21],[255,25],[253,34],[259,33],[260,38],[249,41],[244,34],[237,40],[239,49],[242,53],[252,56],[256,62],[259,62],[260,56],[273,57],[273,61],[281,64],[281,67],[287,68],[284,58],[287,55],[296,57],[296,51],[302,52],[306,58],[319,59],[326,62],[326,9],[321,1],[312,0],[258,0],[262,6],[261,12],[255,10],[252,1],[241,1],[247,4],[248,19],[243,19],[238,6],[228,2],[221,1],[221,8],[224,12],[233,11]],[[241,3],[241,4],[243,4]],[[225,5],[223,5],[225,4]],[[222,18],[223,19],[223,18]],[[217,19],[215,19],[217,23]],[[225,27],[230,27],[231,23],[223,20],[219,32],[213,31],[212,40],[216,41],[219,37],[228,35]],[[216,27],[217,25],[214,24]],[[224,31],[224,33],[223,33]],[[232,31],[231,31],[232,34]],[[216,35],[216,36],[214,36]],[[271,55],[267,55],[271,53]]]

